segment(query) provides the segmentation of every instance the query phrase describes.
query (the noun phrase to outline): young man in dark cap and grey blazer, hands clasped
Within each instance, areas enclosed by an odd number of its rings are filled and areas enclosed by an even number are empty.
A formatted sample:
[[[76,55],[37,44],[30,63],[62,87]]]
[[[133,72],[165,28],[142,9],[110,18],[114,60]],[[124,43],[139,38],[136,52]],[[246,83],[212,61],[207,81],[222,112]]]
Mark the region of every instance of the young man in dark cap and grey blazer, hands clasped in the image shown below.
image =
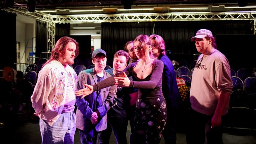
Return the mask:
[[[79,73],[77,90],[83,89],[83,84],[93,85],[111,76],[104,70],[107,62],[104,50],[95,49],[91,58],[95,67]],[[79,129],[82,144],[97,144],[98,133],[107,128],[107,112],[113,103],[113,90],[107,87],[82,99],[76,96],[76,128]]]

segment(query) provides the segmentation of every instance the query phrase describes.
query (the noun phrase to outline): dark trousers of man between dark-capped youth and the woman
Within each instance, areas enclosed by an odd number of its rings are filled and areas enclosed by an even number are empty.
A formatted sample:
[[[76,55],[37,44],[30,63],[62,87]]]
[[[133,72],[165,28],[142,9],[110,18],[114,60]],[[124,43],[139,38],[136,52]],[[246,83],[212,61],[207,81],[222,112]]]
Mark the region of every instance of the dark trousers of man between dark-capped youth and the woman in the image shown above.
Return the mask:
[[[99,134],[100,144],[109,144],[109,139],[114,132],[117,144],[127,144],[126,132],[128,126],[127,117],[109,117],[108,115],[108,125],[107,129],[101,131]]]

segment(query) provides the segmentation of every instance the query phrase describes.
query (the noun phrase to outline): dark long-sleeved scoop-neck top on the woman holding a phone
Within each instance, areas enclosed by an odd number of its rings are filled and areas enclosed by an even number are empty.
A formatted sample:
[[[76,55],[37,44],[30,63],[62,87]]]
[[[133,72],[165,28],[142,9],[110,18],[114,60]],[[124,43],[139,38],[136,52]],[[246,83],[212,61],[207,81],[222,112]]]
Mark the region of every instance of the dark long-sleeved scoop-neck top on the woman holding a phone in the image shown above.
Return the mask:
[[[138,98],[158,98],[162,96],[162,73],[163,73],[163,62],[155,60],[153,62],[152,73],[144,79],[139,79],[136,73],[133,72],[133,67],[137,62],[130,64],[124,69],[128,77],[132,76],[129,87],[138,88]],[[109,87],[114,85],[114,76],[108,77],[107,79],[93,85],[93,91]]]

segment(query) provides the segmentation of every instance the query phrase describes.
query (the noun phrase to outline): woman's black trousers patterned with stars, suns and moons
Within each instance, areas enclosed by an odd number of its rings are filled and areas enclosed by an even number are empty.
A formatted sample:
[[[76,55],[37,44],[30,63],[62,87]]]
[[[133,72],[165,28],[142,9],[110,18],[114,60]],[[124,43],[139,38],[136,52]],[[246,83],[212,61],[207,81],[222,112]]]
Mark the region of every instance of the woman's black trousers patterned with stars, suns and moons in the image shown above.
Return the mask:
[[[159,144],[166,120],[166,102],[163,96],[138,98],[134,122],[136,143]]]

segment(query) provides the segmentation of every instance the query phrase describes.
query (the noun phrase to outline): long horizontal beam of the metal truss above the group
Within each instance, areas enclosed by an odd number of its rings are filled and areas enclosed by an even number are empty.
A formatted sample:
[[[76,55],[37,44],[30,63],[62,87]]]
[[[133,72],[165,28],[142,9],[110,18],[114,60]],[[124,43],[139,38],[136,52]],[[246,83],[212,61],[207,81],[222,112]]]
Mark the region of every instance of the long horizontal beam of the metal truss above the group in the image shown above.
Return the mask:
[[[173,13],[136,13],[136,14],[93,14],[51,16],[55,23],[69,22],[159,22],[159,21],[196,21],[196,20],[254,20],[256,12],[173,12]]]

